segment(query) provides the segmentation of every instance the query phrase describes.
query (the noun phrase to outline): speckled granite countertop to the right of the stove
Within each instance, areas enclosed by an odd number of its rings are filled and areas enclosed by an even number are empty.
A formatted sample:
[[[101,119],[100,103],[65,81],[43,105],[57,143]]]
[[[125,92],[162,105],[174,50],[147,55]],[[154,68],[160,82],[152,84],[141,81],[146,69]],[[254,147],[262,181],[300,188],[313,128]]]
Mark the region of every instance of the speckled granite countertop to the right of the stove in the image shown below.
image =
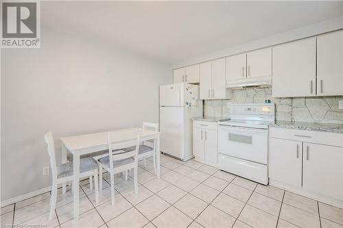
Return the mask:
[[[286,128],[286,129],[298,129],[298,130],[307,130],[307,131],[324,131],[324,132],[343,134],[343,125],[332,124],[332,123],[275,121],[274,124],[269,124],[269,127],[280,127],[280,128]]]

